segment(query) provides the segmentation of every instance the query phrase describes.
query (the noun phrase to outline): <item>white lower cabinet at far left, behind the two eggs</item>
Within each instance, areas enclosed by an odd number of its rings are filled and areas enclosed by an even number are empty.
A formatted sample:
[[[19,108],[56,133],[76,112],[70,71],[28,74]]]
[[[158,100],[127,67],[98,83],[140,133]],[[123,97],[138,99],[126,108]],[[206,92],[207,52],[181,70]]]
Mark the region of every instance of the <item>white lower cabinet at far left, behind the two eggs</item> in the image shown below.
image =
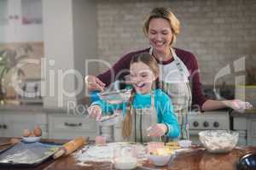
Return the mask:
[[[42,129],[43,138],[48,138],[47,115],[45,113],[1,111],[0,136],[20,137],[24,128],[33,130],[35,126]]]

